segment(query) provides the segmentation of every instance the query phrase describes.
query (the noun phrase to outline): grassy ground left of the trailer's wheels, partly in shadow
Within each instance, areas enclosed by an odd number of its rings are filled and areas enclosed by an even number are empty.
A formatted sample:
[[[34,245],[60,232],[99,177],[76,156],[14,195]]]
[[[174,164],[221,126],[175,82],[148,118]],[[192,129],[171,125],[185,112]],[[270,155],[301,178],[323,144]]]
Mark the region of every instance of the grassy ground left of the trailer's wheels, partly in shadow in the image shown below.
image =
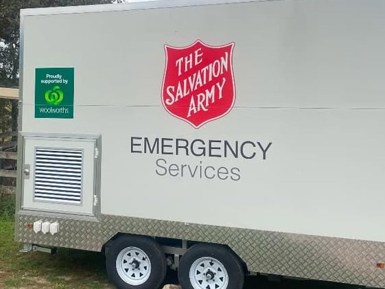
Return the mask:
[[[14,196],[0,196],[0,288],[112,289],[100,253],[60,249],[20,253],[14,241]]]

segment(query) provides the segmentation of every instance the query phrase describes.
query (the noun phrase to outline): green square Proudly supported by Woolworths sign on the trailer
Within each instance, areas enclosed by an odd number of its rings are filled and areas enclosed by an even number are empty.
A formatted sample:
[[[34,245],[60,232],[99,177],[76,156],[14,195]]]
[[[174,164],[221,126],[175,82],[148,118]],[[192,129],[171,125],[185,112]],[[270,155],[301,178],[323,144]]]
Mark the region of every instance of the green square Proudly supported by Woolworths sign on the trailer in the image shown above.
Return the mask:
[[[73,118],[73,67],[36,68],[35,117]]]

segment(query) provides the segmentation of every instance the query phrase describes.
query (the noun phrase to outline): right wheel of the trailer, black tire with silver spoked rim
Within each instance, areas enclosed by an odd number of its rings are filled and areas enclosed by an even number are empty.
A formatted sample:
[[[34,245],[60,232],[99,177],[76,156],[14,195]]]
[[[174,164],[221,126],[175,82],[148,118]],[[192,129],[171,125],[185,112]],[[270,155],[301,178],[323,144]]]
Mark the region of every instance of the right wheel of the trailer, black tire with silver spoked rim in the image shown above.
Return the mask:
[[[180,259],[178,279],[183,289],[241,289],[244,270],[226,247],[196,244]]]

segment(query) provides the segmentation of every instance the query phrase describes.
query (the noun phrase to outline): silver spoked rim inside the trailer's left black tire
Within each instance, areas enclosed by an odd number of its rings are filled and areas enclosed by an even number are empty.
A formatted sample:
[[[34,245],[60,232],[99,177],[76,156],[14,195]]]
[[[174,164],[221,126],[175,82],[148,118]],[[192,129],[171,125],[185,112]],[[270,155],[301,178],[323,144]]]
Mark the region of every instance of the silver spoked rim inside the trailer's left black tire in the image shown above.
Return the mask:
[[[151,262],[148,255],[137,247],[127,247],[116,258],[119,277],[130,285],[141,285],[151,274]]]

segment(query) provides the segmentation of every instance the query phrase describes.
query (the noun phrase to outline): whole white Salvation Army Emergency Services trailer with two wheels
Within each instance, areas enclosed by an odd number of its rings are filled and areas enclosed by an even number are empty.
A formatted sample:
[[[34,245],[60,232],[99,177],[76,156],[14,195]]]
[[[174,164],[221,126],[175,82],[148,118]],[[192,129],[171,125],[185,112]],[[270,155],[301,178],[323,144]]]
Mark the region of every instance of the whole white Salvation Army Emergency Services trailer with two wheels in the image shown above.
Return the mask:
[[[16,240],[117,288],[385,288],[385,1],[21,11]]]

